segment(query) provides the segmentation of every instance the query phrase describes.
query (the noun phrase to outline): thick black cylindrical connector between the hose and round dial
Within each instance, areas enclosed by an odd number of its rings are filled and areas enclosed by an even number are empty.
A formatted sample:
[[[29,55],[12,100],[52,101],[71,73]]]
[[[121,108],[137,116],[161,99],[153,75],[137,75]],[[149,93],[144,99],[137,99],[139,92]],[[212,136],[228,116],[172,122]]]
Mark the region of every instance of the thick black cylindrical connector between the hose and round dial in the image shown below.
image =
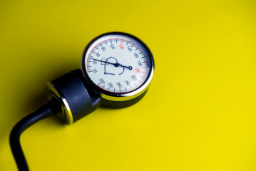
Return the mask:
[[[51,81],[58,93],[66,99],[73,115],[73,123],[101,105],[101,96],[88,89],[82,80],[84,78],[81,70],[75,70]]]

